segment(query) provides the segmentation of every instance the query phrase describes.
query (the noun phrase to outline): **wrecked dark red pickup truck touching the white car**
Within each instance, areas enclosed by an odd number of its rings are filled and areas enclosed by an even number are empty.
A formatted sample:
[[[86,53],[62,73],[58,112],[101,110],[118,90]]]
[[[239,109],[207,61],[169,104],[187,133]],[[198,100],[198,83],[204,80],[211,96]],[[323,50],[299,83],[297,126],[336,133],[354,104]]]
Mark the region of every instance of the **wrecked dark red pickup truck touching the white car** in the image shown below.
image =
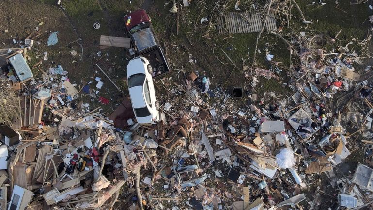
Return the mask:
[[[124,16],[126,33],[131,38],[136,56],[145,57],[156,77],[170,71],[170,66],[155,35],[150,17],[145,10],[138,10]]]

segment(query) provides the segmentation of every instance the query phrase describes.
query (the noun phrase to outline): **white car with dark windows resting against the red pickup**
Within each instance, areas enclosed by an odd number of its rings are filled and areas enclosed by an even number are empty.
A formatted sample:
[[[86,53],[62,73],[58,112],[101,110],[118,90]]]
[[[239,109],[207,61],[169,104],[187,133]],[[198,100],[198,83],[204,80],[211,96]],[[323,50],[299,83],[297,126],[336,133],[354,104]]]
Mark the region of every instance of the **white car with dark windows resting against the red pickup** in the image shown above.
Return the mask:
[[[127,65],[129,96],[138,123],[154,123],[160,118],[152,73],[153,68],[144,57],[136,57]]]

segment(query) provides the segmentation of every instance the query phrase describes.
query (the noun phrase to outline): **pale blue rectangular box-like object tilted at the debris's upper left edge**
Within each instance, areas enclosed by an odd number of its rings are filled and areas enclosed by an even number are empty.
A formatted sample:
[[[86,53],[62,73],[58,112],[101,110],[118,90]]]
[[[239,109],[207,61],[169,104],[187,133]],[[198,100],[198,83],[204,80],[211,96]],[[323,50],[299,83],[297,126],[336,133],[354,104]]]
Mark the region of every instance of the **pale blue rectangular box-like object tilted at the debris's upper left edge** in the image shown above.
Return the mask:
[[[16,77],[19,81],[27,81],[33,77],[29,65],[27,65],[25,59],[21,54],[16,54],[9,58],[10,64],[13,66]]]

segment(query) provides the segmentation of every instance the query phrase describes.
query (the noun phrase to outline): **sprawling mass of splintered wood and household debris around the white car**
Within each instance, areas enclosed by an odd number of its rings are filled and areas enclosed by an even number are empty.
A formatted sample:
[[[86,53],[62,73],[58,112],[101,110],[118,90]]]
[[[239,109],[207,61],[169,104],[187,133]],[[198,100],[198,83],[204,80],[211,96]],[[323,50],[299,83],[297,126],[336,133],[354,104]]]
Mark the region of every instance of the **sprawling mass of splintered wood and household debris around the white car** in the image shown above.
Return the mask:
[[[272,69],[244,66],[250,85],[229,91],[198,71],[154,79],[167,90],[155,124],[137,123],[129,97],[110,115],[79,101],[109,103],[98,75],[77,85],[55,65],[36,79],[27,56],[9,51],[5,75],[21,111],[0,126],[1,208],[372,208],[373,142],[362,141],[369,166],[337,172],[360,149],[357,134],[372,137],[371,76],[357,73],[360,58],[348,45],[325,53],[312,39],[286,41],[301,64],[287,69],[291,96],[258,96],[257,78],[278,79],[285,69],[268,53]]]

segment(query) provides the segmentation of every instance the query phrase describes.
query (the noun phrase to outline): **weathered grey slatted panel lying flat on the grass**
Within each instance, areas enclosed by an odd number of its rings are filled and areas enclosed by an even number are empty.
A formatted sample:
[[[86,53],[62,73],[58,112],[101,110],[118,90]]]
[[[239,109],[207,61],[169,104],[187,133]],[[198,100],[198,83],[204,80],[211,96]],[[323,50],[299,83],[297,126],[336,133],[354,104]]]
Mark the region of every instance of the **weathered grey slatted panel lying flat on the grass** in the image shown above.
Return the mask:
[[[264,15],[260,13],[250,14],[248,11],[229,12],[227,14],[215,16],[215,19],[220,34],[260,32],[264,24]],[[264,29],[267,31],[277,30],[273,13],[270,13],[268,16]]]

